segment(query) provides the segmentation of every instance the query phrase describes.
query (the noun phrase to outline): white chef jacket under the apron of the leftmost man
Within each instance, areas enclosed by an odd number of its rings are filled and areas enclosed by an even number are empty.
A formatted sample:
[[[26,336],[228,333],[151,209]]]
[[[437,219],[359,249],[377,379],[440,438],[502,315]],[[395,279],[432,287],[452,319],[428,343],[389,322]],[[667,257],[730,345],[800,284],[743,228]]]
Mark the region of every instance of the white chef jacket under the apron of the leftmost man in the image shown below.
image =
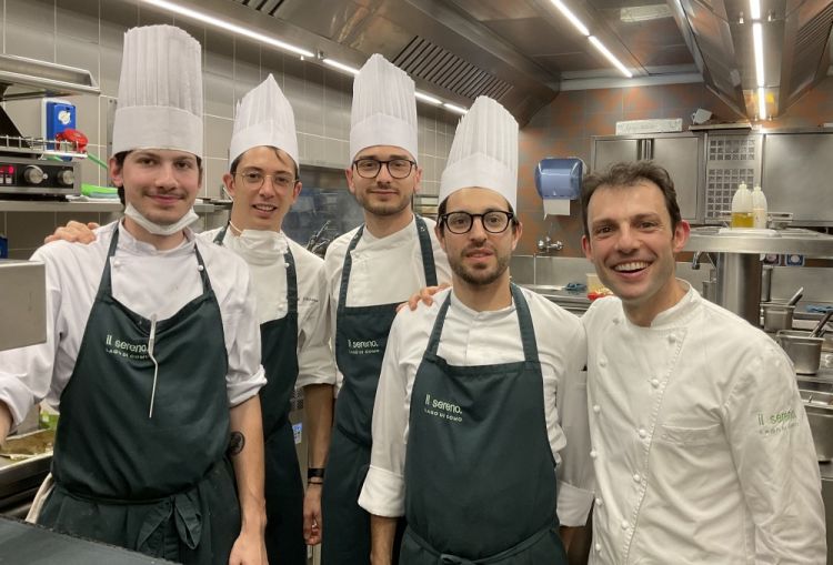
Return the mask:
[[[89,245],[58,241],[32,255],[46,263],[47,341],[0,352],[0,400],[9,406],[14,425],[47,396],[50,405],[59,407],[76,366],[114,226],[116,222],[96,230],[97,239]],[[158,320],[167,320],[203,292],[193,251],[198,245],[220,305],[229,359],[227,391],[229,404],[234,406],[258,394],[267,382],[260,366],[254,301],[249,299],[249,270],[230,251],[185,232],[180,246],[159,251],[119,223],[119,243],[110,262],[113,297],[143,317],[155,314]],[[191,354],[199,354],[199,344]]]

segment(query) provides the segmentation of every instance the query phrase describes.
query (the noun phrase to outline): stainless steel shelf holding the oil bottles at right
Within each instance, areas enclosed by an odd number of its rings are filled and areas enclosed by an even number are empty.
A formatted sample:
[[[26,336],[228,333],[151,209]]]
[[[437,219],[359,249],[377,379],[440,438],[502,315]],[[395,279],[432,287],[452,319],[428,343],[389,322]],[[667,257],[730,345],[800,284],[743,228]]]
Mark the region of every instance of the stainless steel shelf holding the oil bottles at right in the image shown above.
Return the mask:
[[[717,233],[719,228],[695,228],[683,251],[714,253],[800,253],[811,258],[833,259],[833,235],[812,230],[779,230],[775,235]]]

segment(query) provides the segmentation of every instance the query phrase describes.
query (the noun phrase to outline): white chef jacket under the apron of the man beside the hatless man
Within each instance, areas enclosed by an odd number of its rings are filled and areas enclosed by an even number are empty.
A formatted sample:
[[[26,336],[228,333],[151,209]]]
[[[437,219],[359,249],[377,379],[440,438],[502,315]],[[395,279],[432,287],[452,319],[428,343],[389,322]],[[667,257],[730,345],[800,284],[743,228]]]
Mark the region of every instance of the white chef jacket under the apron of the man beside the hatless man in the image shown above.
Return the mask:
[[[546,435],[555,462],[564,463],[558,465],[559,518],[562,525],[583,526],[593,502],[593,493],[585,490],[592,485],[592,464],[585,444],[573,444],[570,432],[586,428],[588,424],[582,372],[586,359],[584,331],[573,314],[539,294],[525,289],[521,291],[535,329]],[[370,471],[359,496],[359,505],[371,514],[388,517],[404,514],[411,391],[440,306],[450,292],[438,293],[431,306],[420,304],[415,311],[403,309],[391,327],[373,406]],[[458,366],[523,361],[514,303],[498,311],[476,312],[452,292],[438,355]],[[506,425],[511,425],[512,415],[505,417]],[[524,440],[519,437],[518,441]],[[523,462],[518,464],[523,465]]]

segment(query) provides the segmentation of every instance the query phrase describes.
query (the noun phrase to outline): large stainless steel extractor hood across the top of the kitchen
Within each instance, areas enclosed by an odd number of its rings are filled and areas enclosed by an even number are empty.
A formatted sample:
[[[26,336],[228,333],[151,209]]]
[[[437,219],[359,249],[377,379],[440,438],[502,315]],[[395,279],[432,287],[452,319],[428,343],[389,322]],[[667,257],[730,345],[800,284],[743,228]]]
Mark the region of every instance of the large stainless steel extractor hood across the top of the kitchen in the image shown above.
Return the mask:
[[[564,0],[635,81],[624,79],[550,0],[177,3],[353,65],[382,53],[418,89],[462,105],[491,95],[521,125],[561,89],[572,89],[571,81],[616,88],[691,82],[696,74],[739,114],[721,118],[759,113],[749,0]],[[762,0],[760,21],[764,98],[775,117],[827,75],[833,0]]]

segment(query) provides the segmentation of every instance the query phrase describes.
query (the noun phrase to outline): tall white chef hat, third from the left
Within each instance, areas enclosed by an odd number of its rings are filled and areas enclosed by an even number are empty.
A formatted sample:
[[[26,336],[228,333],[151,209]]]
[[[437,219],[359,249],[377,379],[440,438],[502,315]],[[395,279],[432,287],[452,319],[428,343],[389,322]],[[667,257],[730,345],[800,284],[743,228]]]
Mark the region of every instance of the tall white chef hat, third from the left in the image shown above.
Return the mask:
[[[364,148],[393,145],[416,159],[416,97],[413,80],[379,53],[353,79],[350,160]]]

